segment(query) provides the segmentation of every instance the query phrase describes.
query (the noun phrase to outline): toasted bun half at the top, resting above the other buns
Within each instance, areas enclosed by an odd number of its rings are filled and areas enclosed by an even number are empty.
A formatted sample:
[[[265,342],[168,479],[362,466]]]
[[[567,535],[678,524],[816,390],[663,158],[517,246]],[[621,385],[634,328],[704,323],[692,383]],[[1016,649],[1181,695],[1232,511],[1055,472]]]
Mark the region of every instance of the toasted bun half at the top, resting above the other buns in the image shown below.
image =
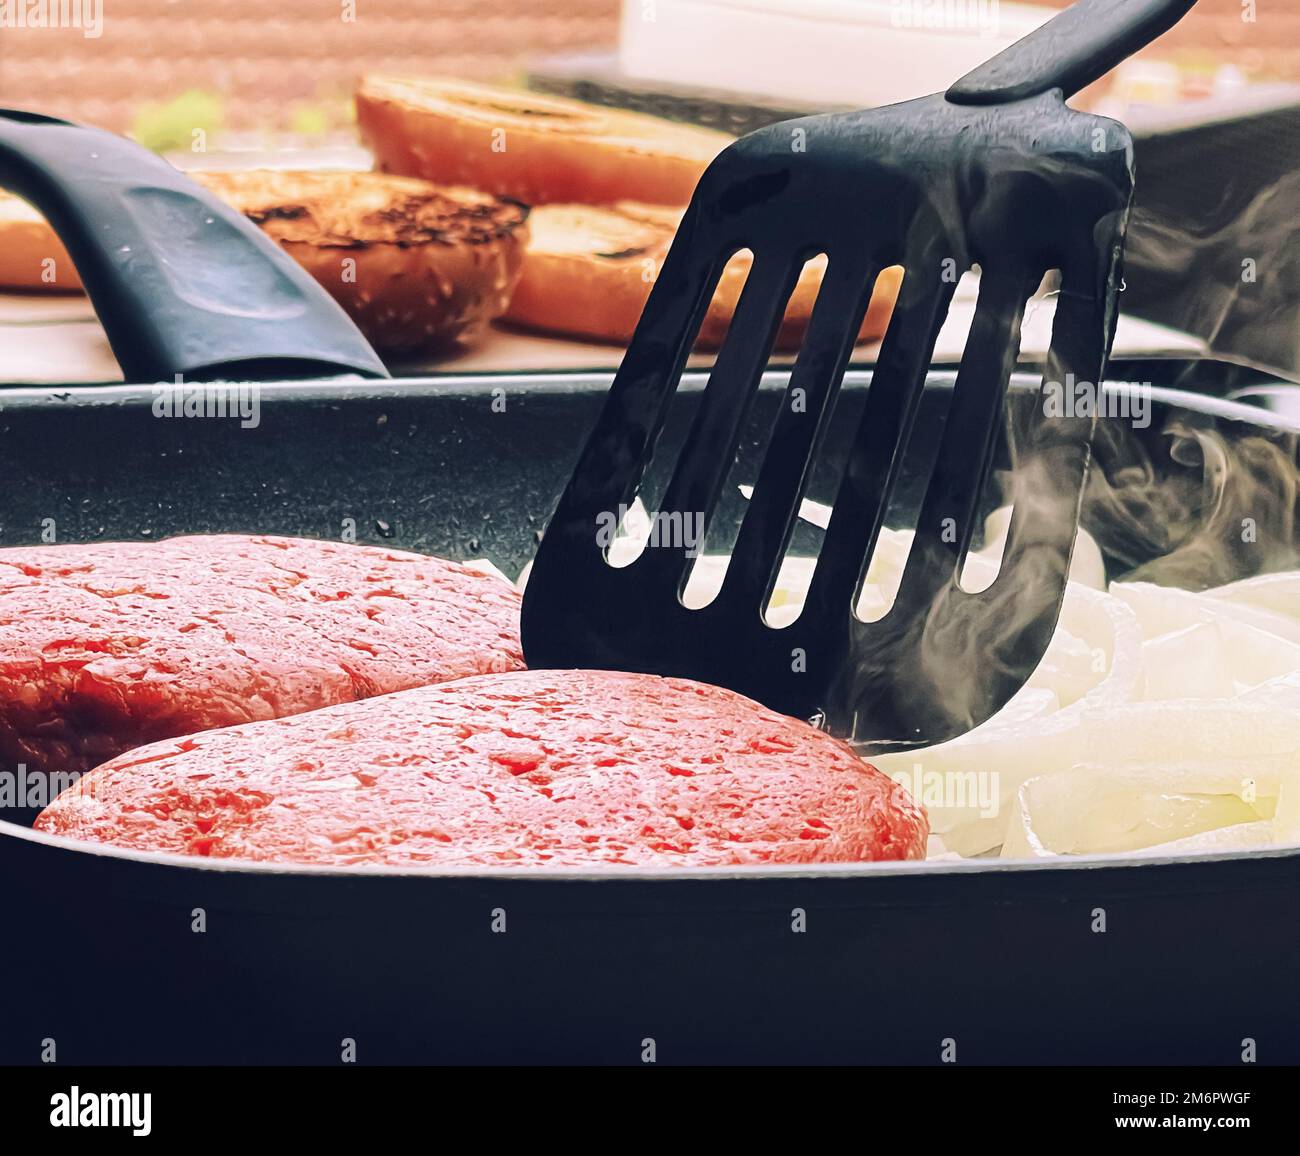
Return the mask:
[[[685,204],[725,133],[463,81],[365,77],[356,122],[378,168],[525,204]]]

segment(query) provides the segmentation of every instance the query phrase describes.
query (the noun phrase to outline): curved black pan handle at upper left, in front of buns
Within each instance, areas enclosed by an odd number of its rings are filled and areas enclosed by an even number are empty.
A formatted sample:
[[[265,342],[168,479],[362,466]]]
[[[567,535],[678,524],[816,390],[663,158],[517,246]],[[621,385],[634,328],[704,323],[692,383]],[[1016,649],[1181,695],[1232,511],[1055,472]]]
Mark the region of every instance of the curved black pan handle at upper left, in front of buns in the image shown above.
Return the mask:
[[[0,109],[0,187],[68,248],[127,381],[387,376],[278,244],[124,137]]]

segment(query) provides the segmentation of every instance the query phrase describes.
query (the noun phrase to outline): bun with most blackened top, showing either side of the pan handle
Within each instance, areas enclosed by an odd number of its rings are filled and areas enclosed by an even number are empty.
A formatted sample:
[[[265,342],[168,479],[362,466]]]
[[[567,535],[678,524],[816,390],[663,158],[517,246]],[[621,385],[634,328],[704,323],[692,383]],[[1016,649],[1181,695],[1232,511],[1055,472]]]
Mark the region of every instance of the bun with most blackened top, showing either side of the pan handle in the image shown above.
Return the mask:
[[[463,339],[510,300],[528,209],[480,192],[384,173],[191,173],[306,268],[384,352]],[[46,257],[57,280],[42,281]],[[79,289],[40,215],[0,202],[0,285]]]

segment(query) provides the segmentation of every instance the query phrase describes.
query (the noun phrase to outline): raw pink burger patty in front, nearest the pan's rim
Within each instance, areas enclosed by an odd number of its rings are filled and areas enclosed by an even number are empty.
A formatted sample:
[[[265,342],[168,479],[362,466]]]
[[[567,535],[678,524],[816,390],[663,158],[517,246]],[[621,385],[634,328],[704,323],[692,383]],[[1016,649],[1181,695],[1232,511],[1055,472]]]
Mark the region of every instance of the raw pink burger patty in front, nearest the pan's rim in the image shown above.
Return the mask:
[[[159,742],[36,828],[298,863],[703,866],[920,858],[924,814],[807,723],[731,690],[521,671]]]

